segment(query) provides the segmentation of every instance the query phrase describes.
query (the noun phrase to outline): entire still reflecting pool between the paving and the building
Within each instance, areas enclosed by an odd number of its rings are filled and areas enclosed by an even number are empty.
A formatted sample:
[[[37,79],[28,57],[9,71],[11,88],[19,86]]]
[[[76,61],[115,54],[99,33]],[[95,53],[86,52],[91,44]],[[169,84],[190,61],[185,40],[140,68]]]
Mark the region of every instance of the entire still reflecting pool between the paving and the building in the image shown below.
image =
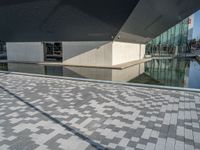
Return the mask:
[[[195,59],[154,59],[123,70],[0,63],[0,70],[200,89]]]

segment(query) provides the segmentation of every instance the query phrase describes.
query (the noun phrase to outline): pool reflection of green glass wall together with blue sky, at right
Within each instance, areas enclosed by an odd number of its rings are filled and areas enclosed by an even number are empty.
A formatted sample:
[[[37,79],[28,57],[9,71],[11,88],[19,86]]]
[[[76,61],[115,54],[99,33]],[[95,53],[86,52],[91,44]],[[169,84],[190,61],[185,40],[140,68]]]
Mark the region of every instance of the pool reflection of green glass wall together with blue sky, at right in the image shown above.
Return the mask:
[[[145,74],[157,84],[200,89],[200,64],[195,59],[154,59]]]

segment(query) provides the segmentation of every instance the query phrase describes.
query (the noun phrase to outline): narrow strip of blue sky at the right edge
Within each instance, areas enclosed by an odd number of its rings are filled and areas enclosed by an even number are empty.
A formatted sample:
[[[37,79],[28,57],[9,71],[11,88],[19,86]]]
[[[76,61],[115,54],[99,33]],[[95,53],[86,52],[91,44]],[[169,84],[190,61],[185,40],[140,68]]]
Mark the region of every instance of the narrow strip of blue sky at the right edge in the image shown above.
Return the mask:
[[[200,39],[200,10],[194,14],[193,39]]]

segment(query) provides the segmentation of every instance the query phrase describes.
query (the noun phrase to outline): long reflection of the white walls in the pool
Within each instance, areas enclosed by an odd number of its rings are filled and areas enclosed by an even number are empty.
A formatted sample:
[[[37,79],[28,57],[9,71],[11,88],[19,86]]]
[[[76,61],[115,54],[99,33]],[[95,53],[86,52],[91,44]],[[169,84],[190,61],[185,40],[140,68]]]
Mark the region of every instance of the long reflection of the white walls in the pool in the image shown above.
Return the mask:
[[[44,66],[22,63],[8,63],[4,67],[1,65],[0,69],[14,72],[89,78],[97,80],[130,81],[131,79],[144,73],[144,63],[134,65],[122,70],[86,67]]]

